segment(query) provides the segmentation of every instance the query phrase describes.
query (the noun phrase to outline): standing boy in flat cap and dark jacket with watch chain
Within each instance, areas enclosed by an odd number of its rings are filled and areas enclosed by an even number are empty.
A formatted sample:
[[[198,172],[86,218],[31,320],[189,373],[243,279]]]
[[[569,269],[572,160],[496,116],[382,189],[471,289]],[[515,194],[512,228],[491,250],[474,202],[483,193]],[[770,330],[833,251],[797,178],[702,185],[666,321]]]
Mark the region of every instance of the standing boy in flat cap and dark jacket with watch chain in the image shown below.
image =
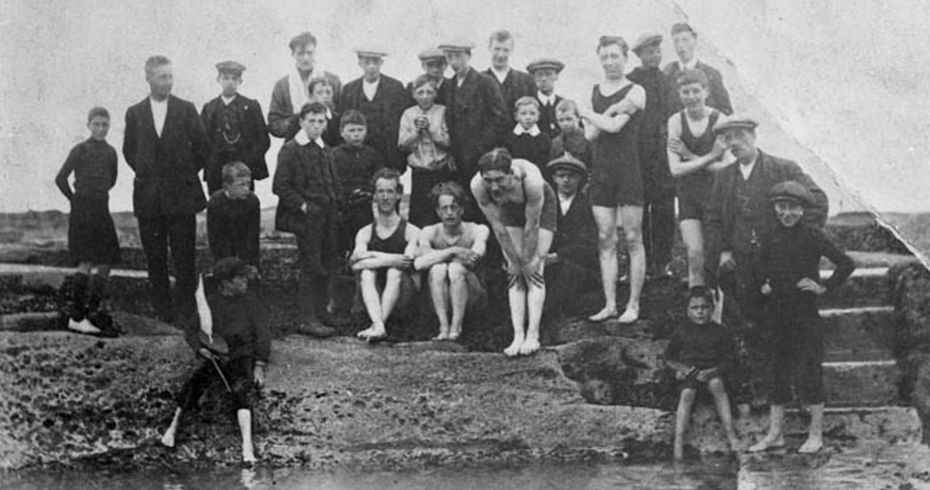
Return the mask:
[[[210,158],[203,171],[210,195],[223,188],[223,165],[230,162],[246,164],[253,181],[267,178],[265,152],[271,145],[262,106],[238,93],[245,67],[235,61],[223,61],[216,64],[216,70],[216,81],[222,91],[200,111],[210,139]]]

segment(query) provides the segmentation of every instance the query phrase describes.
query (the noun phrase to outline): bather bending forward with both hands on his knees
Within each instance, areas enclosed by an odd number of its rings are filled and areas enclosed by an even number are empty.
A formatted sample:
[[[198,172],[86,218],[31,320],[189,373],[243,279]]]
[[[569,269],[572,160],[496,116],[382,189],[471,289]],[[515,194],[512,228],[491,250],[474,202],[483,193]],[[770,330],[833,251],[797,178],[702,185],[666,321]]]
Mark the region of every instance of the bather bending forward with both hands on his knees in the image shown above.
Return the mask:
[[[471,192],[507,259],[513,343],[504,354],[532,354],[539,350],[546,301],[543,270],[558,220],[558,199],[538,167],[512,160],[503,148],[485,153],[478,160],[478,172]]]

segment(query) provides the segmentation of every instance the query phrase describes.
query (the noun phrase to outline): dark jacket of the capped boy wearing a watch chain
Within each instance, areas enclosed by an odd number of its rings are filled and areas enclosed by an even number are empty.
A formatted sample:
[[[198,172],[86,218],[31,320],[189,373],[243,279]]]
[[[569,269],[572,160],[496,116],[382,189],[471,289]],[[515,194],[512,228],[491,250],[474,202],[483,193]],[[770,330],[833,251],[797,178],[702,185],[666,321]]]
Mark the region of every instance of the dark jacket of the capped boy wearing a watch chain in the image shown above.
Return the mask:
[[[203,180],[208,180],[210,176],[217,180],[222,179],[222,165],[228,163],[220,154],[224,147],[223,134],[219,131],[220,128],[214,128],[217,110],[223,105],[222,97],[217,97],[204,104],[200,111],[200,118],[203,119],[203,125],[210,141],[210,158],[203,172]],[[229,105],[230,108],[242,114],[242,126],[239,128],[242,141],[237,146],[240,151],[235,152],[238,155],[234,158],[241,158],[242,162],[249,166],[253,179],[267,178],[268,164],[265,163],[265,153],[271,146],[271,139],[268,137],[268,128],[265,126],[261,104],[255,99],[239,94]]]

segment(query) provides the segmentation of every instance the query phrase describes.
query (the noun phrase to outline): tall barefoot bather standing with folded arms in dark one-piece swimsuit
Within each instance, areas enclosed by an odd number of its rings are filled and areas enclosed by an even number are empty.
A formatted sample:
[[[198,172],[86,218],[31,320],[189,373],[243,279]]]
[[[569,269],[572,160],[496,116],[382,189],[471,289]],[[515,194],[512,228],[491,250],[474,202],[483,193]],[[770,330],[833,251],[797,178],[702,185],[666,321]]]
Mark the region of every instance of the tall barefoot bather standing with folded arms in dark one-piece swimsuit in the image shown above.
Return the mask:
[[[592,109],[579,109],[585,136],[593,143],[591,205],[598,228],[598,258],[604,308],[590,317],[604,321],[617,316],[617,226],[623,226],[630,254],[630,298],[621,323],[639,319],[639,299],[646,276],[643,248],[643,182],[636,137],[646,91],[626,79],[628,47],[620,36],[601,36],[597,55],[604,81],[594,86]]]

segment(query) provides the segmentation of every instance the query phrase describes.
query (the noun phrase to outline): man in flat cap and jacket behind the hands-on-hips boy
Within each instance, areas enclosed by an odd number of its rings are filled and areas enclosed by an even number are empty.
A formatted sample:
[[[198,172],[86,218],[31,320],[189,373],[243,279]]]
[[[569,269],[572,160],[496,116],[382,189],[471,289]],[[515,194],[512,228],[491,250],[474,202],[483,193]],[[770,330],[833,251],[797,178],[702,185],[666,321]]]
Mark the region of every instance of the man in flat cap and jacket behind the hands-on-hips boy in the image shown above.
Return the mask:
[[[750,351],[750,369],[764,359],[762,340],[758,338],[764,320],[765,298],[759,290],[761,277],[760,247],[778,220],[769,203],[769,190],[779,183],[793,180],[808,189],[811,202],[804,222],[823,227],[827,219],[827,196],[797,163],[763,153],[756,147],[758,123],[746,116],[733,115],[718,122],[714,132],[736,158],[714,178],[704,226],[705,263],[721,289],[735,301],[727,301],[724,314],[727,325],[737,329]],[[745,371],[745,370],[744,370]]]

